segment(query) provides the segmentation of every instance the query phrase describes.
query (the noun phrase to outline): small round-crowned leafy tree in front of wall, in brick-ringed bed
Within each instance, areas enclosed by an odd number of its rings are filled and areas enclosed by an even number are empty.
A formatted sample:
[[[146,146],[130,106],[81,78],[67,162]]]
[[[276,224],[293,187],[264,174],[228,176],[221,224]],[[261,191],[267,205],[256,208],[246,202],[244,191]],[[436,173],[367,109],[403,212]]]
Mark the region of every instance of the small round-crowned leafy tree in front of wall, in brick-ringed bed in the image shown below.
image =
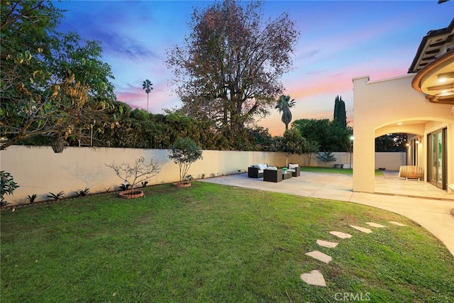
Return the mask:
[[[178,138],[170,150],[170,159],[179,167],[179,183],[184,183],[189,167],[193,162],[202,159],[202,150],[191,138]]]

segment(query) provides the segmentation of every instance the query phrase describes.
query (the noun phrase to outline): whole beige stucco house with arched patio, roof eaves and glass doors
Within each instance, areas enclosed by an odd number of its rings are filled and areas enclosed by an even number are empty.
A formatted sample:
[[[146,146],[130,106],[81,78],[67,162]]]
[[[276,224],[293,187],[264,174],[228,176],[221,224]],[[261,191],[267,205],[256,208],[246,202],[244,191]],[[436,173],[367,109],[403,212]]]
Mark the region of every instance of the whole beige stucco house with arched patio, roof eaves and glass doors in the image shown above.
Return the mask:
[[[375,138],[408,133],[407,164],[423,167],[424,182],[452,192],[454,18],[423,37],[407,75],[354,78],[353,104],[353,191],[375,192]]]

